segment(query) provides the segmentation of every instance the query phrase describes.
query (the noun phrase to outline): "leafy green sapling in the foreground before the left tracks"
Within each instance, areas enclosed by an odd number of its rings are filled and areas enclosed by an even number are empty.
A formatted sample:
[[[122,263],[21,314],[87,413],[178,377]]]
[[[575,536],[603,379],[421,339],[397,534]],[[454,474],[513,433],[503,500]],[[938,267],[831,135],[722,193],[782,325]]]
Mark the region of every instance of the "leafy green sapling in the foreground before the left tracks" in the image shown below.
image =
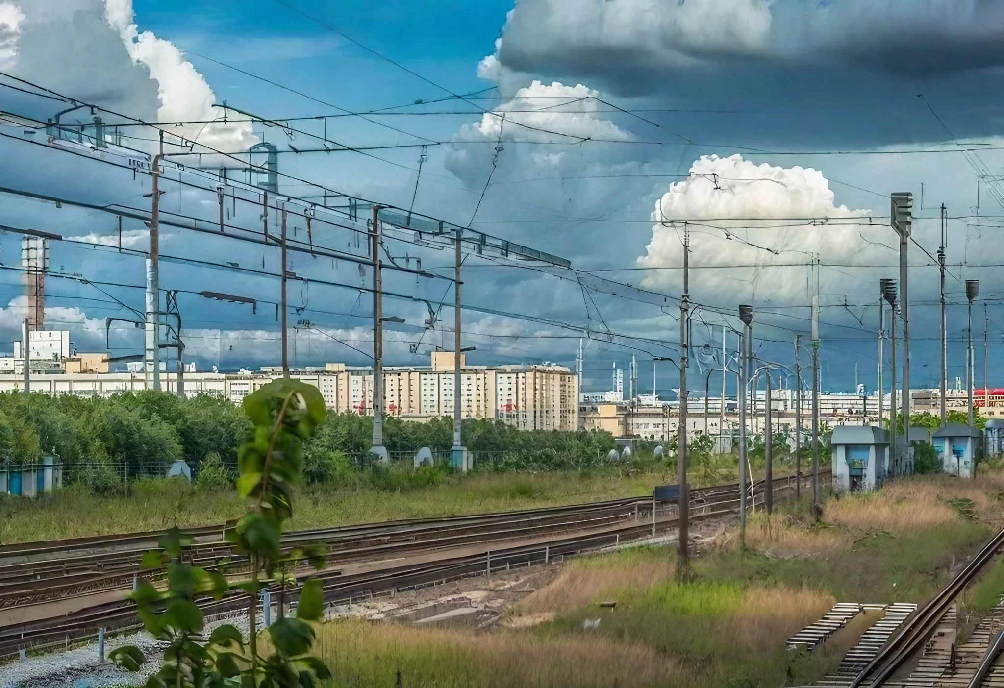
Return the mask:
[[[323,611],[319,580],[304,582],[295,618],[280,618],[261,632],[269,635],[271,655],[259,651],[256,628],[263,588],[277,585],[281,596],[287,585],[296,582],[290,568],[303,561],[317,569],[324,564],[319,549],[283,553],[280,548],[283,523],[293,512],[291,486],[303,469],[303,443],[324,419],[324,400],[316,387],[281,378],[245,397],[243,408],[253,429],[240,447],[237,490],[250,507],[227,540],[247,558],[248,578],[231,583],[220,571],[183,563],[182,551],[194,540],[177,529],[161,539],[161,551],[144,557],[147,568],[166,566],[168,578],[163,592],[143,581],[131,596],[146,629],[169,643],[164,664],[147,688],[311,688],[331,675],[310,654],[314,640],[310,623],[318,621]],[[204,623],[196,600],[222,596],[231,588],[248,594],[247,644],[236,627],[224,625],[199,645],[194,637]],[[143,652],[133,646],[116,649],[109,658],[133,671],[144,662]]]

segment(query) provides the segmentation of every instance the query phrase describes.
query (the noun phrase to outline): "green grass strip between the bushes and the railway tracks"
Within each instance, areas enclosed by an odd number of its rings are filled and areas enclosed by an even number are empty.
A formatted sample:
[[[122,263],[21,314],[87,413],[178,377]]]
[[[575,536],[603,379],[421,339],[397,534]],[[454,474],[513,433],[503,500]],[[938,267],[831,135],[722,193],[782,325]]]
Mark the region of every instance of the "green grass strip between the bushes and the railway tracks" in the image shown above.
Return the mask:
[[[735,480],[728,457],[714,471],[695,469],[695,486]],[[635,462],[592,472],[413,473],[384,469],[352,486],[313,484],[296,490],[289,530],[534,508],[652,494],[676,482],[676,468]],[[775,471],[780,475],[781,469]],[[435,479],[433,479],[435,478]],[[131,482],[129,493],[98,494],[80,485],[34,499],[0,495],[0,544],[215,526],[240,518],[244,502],[232,488],[205,489],[182,479]]]

